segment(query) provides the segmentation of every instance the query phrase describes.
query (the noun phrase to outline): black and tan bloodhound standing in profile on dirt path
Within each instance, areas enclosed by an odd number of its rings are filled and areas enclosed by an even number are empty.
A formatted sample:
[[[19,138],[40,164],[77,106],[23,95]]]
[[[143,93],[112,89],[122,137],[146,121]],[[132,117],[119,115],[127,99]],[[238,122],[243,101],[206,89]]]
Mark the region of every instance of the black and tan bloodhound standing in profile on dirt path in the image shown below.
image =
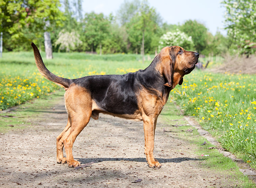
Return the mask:
[[[184,75],[195,68],[199,53],[186,51],[179,46],[168,46],[146,69],[135,73],[66,79],[51,73],[45,67],[36,45],[31,45],[39,72],[66,90],[64,97],[68,122],[57,137],[58,163],[67,163],[68,167],[80,166],[73,158],[73,143],[90,118],[97,120],[99,113],[105,113],[143,121],[144,151],[149,167],[161,167],[153,156],[157,118],[167,102],[169,92],[177,84],[181,85]],[[63,157],[63,146],[66,157]]]

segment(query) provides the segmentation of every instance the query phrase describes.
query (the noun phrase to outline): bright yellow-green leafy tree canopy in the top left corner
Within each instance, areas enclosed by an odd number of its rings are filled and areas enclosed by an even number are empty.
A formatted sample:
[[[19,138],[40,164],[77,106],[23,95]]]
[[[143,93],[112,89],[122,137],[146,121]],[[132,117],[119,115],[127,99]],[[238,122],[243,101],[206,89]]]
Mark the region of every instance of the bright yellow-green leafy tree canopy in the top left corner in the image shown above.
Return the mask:
[[[51,32],[54,26],[60,26],[64,19],[59,10],[59,0],[4,0],[0,2],[0,31],[9,33],[17,41],[26,38],[34,40],[35,35],[42,37]],[[49,22],[51,27],[45,27]],[[28,30],[29,35],[24,32]]]

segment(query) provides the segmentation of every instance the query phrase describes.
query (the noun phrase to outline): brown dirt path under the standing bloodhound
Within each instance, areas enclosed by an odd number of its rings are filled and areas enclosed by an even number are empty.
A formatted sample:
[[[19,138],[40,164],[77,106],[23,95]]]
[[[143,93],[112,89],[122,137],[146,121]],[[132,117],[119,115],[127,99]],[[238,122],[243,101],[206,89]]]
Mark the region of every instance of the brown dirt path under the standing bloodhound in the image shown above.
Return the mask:
[[[64,101],[31,117],[32,126],[0,136],[0,187],[235,187],[225,175],[201,167],[193,144],[159,121],[154,155],[162,163],[150,169],[143,154],[141,122],[100,114],[77,137],[73,155],[90,167],[74,170],[56,163],[56,137],[64,129]],[[161,117],[160,117],[161,119]],[[141,182],[132,183],[141,179]]]

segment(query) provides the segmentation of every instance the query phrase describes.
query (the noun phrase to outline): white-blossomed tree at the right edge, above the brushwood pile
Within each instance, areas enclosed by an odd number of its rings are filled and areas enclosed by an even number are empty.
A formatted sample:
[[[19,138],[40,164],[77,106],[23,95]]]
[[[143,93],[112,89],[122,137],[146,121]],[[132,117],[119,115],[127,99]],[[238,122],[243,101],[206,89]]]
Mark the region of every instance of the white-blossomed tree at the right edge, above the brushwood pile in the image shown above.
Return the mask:
[[[226,8],[225,29],[233,41],[231,47],[241,54],[255,53],[256,1],[224,0],[222,4]]]

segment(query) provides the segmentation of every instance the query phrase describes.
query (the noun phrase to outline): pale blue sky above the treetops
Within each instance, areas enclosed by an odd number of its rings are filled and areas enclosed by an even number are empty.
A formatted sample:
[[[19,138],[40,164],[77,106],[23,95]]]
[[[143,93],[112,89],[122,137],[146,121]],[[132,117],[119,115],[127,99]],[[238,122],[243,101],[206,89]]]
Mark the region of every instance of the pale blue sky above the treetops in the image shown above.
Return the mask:
[[[227,35],[224,30],[225,8],[221,5],[222,0],[148,0],[151,7],[161,15],[163,22],[168,24],[182,25],[186,20],[192,19],[203,23],[213,34],[220,31]],[[124,0],[84,0],[83,11],[116,15]]]

